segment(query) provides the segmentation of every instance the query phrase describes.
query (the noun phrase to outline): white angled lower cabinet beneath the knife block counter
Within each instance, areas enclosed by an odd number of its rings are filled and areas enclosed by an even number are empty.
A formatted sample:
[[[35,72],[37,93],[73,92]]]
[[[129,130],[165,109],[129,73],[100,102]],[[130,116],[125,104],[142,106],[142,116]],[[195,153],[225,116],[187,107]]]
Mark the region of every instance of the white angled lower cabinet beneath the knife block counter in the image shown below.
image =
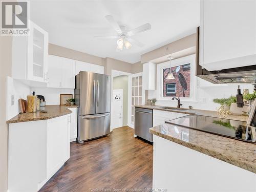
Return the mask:
[[[8,191],[38,191],[70,157],[71,115],[9,124]]]

